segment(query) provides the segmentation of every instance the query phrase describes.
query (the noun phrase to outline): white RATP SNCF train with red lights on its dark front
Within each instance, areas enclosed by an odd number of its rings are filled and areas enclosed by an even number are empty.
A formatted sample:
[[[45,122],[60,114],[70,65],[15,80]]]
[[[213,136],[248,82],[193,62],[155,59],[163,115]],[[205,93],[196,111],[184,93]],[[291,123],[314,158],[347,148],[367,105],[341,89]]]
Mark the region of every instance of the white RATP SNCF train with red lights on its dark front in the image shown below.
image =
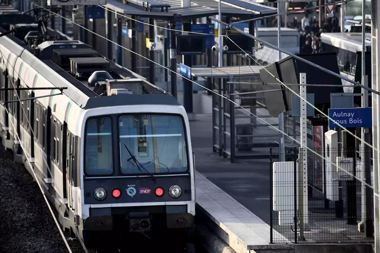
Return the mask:
[[[0,32],[16,33],[0,38],[2,145],[36,175],[63,230],[93,252],[120,249],[131,234],[193,231],[184,107],[89,45],[5,6]]]

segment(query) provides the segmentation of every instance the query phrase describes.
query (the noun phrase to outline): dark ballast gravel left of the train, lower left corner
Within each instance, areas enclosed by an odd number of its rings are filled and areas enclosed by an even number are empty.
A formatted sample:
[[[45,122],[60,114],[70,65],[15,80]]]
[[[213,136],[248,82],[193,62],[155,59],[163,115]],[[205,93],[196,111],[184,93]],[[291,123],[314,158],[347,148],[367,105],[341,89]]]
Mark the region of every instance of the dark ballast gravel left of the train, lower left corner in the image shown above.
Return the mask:
[[[58,220],[55,207],[49,204]],[[84,252],[78,240],[68,240],[68,244],[73,253]],[[1,144],[0,252],[68,252],[37,183]]]

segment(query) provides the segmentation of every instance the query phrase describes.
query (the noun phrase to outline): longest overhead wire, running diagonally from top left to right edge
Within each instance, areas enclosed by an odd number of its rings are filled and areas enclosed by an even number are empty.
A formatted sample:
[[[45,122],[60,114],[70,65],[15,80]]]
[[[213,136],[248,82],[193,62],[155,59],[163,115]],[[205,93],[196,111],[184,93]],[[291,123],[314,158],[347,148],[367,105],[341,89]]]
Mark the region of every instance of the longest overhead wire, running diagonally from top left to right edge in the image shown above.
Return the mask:
[[[25,0],[25,1],[30,2],[30,3],[32,3],[33,5],[36,5],[36,6],[41,7],[40,5],[38,5],[38,4],[36,4],[36,3],[33,3],[33,2],[30,1],[30,0]],[[44,7],[41,7],[41,8],[46,9],[46,8],[44,8]],[[46,9],[46,10],[47,10],[47,11],[50,11],[49,9]],[[50,12],[53,13],[52,11],[50,11]],[[90,29],[88,29],[88,28],[86,28],[86,27],[83,27],[82,25],[80,25],[80,24],[78,24],[78,23],[76,23],[76,22],[74,22],[74,21],[71,21],[70,19],[68,19],[68,18],[66,18],[66,17],[63,17],[63,16],[60,15],[60,14],[57,14],[57,13],[54,13],[54,14],[57,15],[57,16],[59,16],[59,17],[62,17],[63,19],[66,19],[67,21],[69,21],[69,22],[71,22],[71,23],[73,23],[73,24],[75,24],[75,25],[78,25],[79,27],[81,27],[81,28],[87,30],[87,31],[90,32],[90,33],[93,33],[94,35],[99,36],[100,38],[103,38],[103,39],[105,39],[105,40],[107,40],[107,41],[109,41],[109,42],[115,44],[116,46],[119,46],[119,47],[121,47],[121,48],[123,48],[123,49],[125,49],[125,50],[127,50],[127,51],[129,51],[129,52],[131,52],[131,53],[133,53],[133,54],[136,54],[136,55],[138,55],[138,56],[140,56],[140,57],[142,57],[142,58],[144,58],[144,59],[146,59],[146,60],[148,60],[148,61],[150,61],[150,62],[153,62],[153,63],[157,64],[158,66],[161,66],[161,67],[165,68],[166,70],[169,70],[169,71],[171,71],[171,72],[177,74],[178,76],[181,76],[181,77],[183,77],[183,78],[189,80],[190,82],[192,82],[192,83],[194,83],[194,84],[196,84],[196,85],[198,85],[198,86],[200,86],[200,87],[203,87],[204,89],[206,89],[206,90],[208,90],[208,91],[210,91],[210,92],[212,92],[212,93],[215,93],[216,95],[222,97],[223,99],[226,99],[226,100],[230,101],[231,103],[233,103],[233,104],[239,106],[242,110],[244,110],[244,111],[248,112],[249,114],[251,114],[253,117],[256,117],[256,119],[260,120],[261,122],[263,122],[263,123],[267,124],[268,126],[272,127],[274,130],[276,130],[276,131],[278,131],[278,132],[284,134],[285,136],[289,137],[289,138],[290,138],[291,140],[293,140],[294,142],[297,142],[301,147],[304,146],[305,149],[307,149],[307,150],[309,150],[310,152],[314,153],[315,155],[317,155],[318,157],[322,158],[322,159],[325,160],[326,162],[331,163],[331,161],[328,161],[325,157],[323,157],[323,156],[320,155],[319,153],[317,153],[317,152],[315,152],[314,150],[310,149],[309,147],[303,145],[301,142],[297,141],[296,139],[294,139],[293,137],[291,137],[290,135],[288,135],[288,134],[285,133],[284,131],[279,130],[279,129],[276,128],[275,126],[273,126],[273,125],[271,125],[270,123],[266,122],[265,120],[261,119],[261,118],[258,117],[257,115],[253,114],[252,112],[248,111],[247,109],[243,108],[242,106],[240,106],[240,105],[237,104],[236,102],[232,101],[231,99],[229,99],[229,98],[223,96],[222,94],[219,94],[219,93],[215,92],[214,90],[210,90],[210,89],[208,89],[207,87],[204,87],[203,85],[200,85],[200,84],[194,82],[193,80],[191,80],[191,79],[189,79],[189,78],[187,78],[187,77],[185,77],[185,76],[182,76],[181,74],[177,73],[176,71],[173,71],[173,70],[171,70],[171,69],[169,69],[169,68],[166,68],[165,66],[161,65],[160,63],[154,62],[153,60],[150,60],[150,59],[148,59],[147,57],[145,57],[145,56],[143,56],[143,55],[141,55],[141,54],[138,54],[138,53],[136,53],[136,52],[134,52],[134,51],[132,51],[132,50],[126,48],[126,47],[123,47],[123,46],[117,44],[116,42],[114,42],[114,41],[112,41],[112,40],[109,40],[108,38],[106,38],[106,37],[104,37],[104,36],[102,36],[102,35],[100,35],[100,34],[98,34],[98,33],[95,33],[95,32],[93,32],[92,30],[90,30]],[[241,50],[242,50],[242,49],[241,49]],[[242,51],[244,52],[244,50],[242,50]],[[285,151],[285,150],[284,150],[284,151]],[[340,169],[340,170],[346,172],[346,173],[347,173],[348,175],[350,175],[351,177],[354,177],[354,178],[357,179],[359,182],[363,183],[364,185],[366,185],[366,186],[368,186],[369,188],[371,188],[372,190],[374,190],[374,194],[376,194],[376,195],[378,196],[379,191],[376,190],[376,189],[375,189],[374,187],[372,187],[371,185],[369,185],[368,183],[366,183],[364,180],[362,180],[362,179],[356,177],[356,176],[353,175],[351,172],[347,171],[346,169],[343,169],[342,167],[340,167],[340,166],[337,165],[337,164],[334,164],[334,166],[336,166],[338,169]]]

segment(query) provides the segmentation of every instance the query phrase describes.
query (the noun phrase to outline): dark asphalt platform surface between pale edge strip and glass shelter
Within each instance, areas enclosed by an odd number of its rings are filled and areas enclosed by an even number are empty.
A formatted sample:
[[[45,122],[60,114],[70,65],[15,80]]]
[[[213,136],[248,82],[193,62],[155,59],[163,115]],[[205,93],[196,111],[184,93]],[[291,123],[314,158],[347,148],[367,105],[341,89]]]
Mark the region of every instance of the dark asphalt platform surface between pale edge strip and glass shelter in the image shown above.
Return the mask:
[[[197,119],[190,122],[196,171],[269,224],[269,161],[231,163],[229,159],[213,153],[212,116],[197,115]]]

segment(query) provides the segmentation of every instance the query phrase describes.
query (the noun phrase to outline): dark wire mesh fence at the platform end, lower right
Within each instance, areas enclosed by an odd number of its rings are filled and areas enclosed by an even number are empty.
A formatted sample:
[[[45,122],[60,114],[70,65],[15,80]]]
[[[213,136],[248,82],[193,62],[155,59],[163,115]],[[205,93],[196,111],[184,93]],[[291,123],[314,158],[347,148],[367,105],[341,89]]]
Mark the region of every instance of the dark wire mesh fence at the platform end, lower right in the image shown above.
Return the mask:
[[[374,242],[373,191],[366,202],[366,186],[358,180],[366,167],[359,157],[372,150],[314,149],[326,160],[307,149],[269,150],[271,243]],[[286,162],[279,163],[284,152]],[[308,173],[320,187],[310,186]]]

